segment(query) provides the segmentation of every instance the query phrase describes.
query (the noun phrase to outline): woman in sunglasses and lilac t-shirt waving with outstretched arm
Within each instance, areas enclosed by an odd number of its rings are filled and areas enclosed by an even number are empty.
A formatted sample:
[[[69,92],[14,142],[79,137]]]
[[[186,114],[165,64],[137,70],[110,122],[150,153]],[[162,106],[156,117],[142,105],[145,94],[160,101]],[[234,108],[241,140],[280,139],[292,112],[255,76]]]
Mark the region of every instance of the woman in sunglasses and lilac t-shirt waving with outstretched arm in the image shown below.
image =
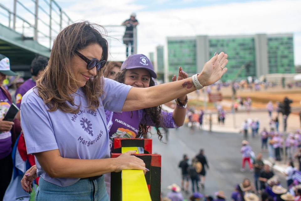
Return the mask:
[[[109,158],[104,109],[135,111],[169,102],[218,81],[227,71],[223,52],[192,78],[139,88],[104,79],[107,41],[96,24],[71,24],[56,37],[44,74],[21,103],[27,153],[34,154],[36,200],[108,200],[103,174],[148,171],[129,151]],[[164,96],[162,96],[164,94]]]

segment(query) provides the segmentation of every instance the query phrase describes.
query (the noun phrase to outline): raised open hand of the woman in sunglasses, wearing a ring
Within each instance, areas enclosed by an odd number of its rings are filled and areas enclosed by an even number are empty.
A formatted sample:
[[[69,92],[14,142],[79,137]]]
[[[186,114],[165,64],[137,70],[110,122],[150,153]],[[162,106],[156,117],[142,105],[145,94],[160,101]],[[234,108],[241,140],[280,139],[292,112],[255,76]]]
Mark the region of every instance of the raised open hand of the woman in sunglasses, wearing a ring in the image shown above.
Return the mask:
[[[228,63],[227,57],[228,55],[224,52],[212,57],[205,63],[202,72],[198,75],[198,81],[203,86],[208,86],[217,82],[228,70],[225,68]]]

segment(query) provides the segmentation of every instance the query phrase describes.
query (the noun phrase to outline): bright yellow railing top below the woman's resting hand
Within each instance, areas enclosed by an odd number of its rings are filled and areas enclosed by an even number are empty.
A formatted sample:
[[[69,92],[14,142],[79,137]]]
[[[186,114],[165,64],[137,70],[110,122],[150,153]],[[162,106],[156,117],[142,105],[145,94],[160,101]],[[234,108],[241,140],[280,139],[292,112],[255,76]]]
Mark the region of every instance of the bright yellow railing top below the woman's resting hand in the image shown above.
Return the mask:
[[[123,170],[122,201],[151,201],[150,193],[142,170]]]

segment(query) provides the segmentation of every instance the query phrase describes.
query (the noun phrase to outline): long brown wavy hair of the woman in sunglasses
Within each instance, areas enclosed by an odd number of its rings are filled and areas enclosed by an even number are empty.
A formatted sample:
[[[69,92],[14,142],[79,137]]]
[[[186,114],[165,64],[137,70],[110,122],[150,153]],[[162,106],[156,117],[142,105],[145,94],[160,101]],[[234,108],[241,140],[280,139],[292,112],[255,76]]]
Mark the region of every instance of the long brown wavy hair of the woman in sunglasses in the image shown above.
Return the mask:
[[[101,30],[105,31],[98,24],[83,21],[67,26],[55,38],[48,65],[37,80],[39,96],[48,106],[49,111],[59,109],[73,114],[79,111],[80,105],[76,105],[71,96],[74,93],[72,85],[76,84],[71,68],[71,58],[76,55],[75,51],[82,50],[91,44],[99,44],[103,48],[101,60],[107,61],[108,42],[101,34]],[[90,110],[96,110],[99,107],[99,98],[103,93],[102,75],[103,69],[97,71],[96,76],[89,79],[82,87]]]

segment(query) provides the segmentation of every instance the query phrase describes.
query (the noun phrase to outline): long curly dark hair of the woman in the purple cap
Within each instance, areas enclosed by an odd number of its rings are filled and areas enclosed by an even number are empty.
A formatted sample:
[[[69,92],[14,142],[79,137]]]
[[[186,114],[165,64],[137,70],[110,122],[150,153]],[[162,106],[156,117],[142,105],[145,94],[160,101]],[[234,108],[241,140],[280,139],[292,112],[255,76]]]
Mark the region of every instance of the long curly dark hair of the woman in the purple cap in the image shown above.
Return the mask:
[[[126,69],[117,73],[116,77],[115,77],[115,81],[124,84],[125,73],[126,73]],[[155,86],[155,82],[153,79],[150,79],[150,87],[151,86]],[[161,118],[162,118],[161,117],[161,109],[162,109],[161,106],[145,108],[145,109],[143,109],[145,115],[144,115],[144,117],[142,117],[142,118],[144,118],[145,121],[146,121],[147,117],[150,117],[150,119],[155,123],[155,128],[157,131],[158,139],[160,141],[162,141],[162,137],[163,137],[159,130]],[[138,135],[136,136],[136,138],[142,138],[142,137],[147,138],[147,133],[150,133],[149,129],[147,128],[147,125],[140,123],[139,124],[139,132],[138,132]]]

